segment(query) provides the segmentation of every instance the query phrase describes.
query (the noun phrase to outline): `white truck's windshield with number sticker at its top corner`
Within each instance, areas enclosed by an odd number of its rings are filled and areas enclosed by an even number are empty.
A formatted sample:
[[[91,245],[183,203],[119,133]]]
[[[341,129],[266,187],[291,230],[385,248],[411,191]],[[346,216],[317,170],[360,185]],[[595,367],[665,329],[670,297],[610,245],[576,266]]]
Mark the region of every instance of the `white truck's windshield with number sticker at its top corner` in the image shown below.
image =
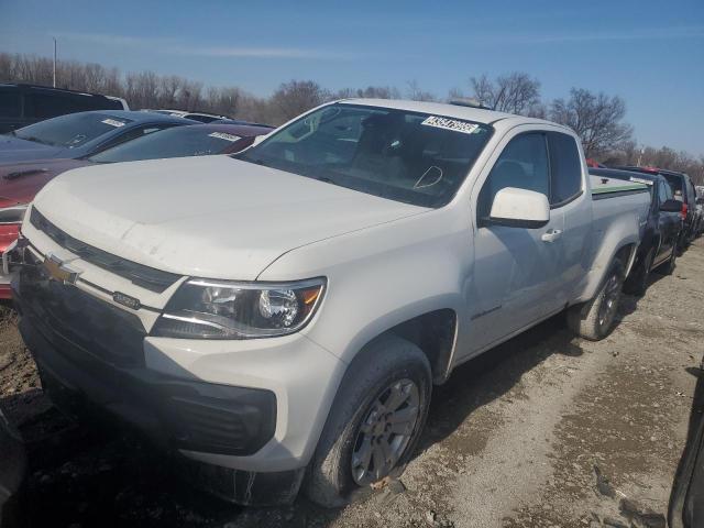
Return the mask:
[[[238,157],[422,207],[448,204],[493,129],[427,113],[321,108]]]

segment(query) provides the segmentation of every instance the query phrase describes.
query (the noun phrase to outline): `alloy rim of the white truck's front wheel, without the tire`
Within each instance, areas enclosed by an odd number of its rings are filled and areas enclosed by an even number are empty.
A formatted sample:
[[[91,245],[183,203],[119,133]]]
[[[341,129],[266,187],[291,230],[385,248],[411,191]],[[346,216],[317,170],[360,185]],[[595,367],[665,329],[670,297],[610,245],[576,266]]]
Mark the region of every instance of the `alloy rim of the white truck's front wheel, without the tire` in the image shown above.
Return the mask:
[[[387,476],[403,457],[420,416],[420,391],[407,378],[388,385],[372,402],[352,451],[352,479],[369,485]]]

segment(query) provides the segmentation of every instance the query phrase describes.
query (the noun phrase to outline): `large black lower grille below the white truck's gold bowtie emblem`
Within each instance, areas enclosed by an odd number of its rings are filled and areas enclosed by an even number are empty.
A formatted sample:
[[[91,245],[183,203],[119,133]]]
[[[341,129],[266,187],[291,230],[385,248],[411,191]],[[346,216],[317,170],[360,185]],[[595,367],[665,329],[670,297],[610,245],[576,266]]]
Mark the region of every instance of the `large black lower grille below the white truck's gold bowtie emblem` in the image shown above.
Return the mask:
[[[28,264],[19,277],[23,316],[55,348],[81,361],[88,354],[116,366],[144,364],[146,331],[135,315],[51,279],[40,262]]]

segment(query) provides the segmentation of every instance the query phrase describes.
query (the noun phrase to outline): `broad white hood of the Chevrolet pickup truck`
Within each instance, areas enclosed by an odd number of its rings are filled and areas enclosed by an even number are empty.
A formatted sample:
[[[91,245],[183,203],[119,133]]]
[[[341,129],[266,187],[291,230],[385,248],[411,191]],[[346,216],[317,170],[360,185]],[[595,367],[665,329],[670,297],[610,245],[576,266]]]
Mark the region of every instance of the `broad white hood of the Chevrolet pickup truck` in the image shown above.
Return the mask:
[[[428,210],[228,156],[77,168],[34,206],[72,237],[123,258],[243,280],[295,248]]]

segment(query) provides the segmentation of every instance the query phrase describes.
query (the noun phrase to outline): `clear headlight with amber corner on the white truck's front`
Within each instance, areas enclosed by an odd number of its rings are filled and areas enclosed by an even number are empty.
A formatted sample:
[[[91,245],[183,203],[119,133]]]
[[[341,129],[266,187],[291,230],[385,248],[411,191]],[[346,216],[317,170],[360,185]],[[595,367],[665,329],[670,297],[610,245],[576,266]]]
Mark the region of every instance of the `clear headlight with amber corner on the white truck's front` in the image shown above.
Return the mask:
[[[152,336],[252,339],[300,330],[320,304],[326,280],[234,283],[194,278],[184,283],[157,319]]]

